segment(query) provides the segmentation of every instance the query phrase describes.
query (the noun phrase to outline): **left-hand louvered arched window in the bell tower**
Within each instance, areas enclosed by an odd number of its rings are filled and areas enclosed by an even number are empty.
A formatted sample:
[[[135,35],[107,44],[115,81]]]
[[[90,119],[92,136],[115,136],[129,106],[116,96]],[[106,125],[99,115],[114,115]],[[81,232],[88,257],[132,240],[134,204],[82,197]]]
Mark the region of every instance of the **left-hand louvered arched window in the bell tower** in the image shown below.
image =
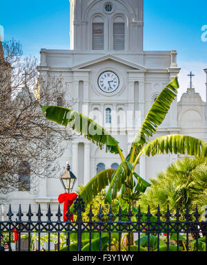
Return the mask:
[[[104,24],[99,16],[92,21],[92,50],[103,50]]]

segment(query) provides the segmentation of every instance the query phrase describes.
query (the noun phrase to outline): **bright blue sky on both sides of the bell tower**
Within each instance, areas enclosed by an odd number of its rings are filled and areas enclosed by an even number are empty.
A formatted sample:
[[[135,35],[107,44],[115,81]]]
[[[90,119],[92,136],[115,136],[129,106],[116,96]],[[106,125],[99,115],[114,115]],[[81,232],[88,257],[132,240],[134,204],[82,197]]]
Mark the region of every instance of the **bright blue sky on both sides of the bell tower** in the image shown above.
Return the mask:
[[[70,48],[69,0],[0,0],[0,6],[4,39],[19,40],[24,55],[39,57],[41,48]],[[206,99],[203,69],[207,68],[207,42],[201,41],[201,27],[207,25],[206,10],[206,0],[144,0],[144,50],[177,50],[182,68],[179,98],[188,87],[186,75],[193,71],[195,89]]]

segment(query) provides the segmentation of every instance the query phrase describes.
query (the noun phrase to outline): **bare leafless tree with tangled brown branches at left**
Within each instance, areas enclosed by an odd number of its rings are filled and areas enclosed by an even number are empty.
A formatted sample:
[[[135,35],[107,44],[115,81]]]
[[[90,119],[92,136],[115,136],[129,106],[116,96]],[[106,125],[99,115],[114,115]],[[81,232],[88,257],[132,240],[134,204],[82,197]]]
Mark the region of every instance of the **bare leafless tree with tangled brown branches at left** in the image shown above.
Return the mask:
[[[39,77],[37,59],[23,57],[19,42],[0,42],[0,199],[29,191],[37,176],[59,176],[70,136],[41,115],[41,105],[71,107],[64,89],[61,76]]]

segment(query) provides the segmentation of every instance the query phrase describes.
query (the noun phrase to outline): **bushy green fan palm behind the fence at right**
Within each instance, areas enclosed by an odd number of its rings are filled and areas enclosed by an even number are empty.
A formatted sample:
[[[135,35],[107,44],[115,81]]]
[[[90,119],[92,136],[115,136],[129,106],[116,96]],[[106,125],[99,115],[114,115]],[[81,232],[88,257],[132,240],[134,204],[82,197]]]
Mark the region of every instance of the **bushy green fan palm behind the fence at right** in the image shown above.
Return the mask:
[[[150,181],[152,185],[145,194],[141,194],[139,200],[141,210],[146,211],[150,205],[152,214],[156,214],[159,205],[161,213],[166,214],[169,205],[170,213],[175,214],[178,207],[181,219],[186,219],[186,208],[193,214],[198,205],[199,212],[204,213],[203,205],[207,204],[206,158],[184,158],[176,161],[166,172],[159,173]]]

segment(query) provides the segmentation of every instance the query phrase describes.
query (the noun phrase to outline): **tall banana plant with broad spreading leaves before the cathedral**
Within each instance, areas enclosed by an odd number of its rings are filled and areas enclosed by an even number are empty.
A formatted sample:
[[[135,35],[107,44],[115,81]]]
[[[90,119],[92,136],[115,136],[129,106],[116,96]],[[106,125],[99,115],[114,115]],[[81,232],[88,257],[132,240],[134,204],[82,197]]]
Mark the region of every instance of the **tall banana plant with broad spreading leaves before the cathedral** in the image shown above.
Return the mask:
[[[207,155],[207,143],[190,136],[167,135],[150,141],[150,137],[155,134],[166,117],[170,104],[177,96],[178,89],[179,83],[177,77],[175,77],[161,91],[148,111],[126,158],[124,158],[118,141],[94,120],[72,109],[42,106],[42,113],[45,114],[46,119],[65,127],[69,125],[75,131],[83,134],[88,140],[91,140],[92,143],[97,144],[100,149],[106,146],[106,152],[119,154],[121,158],[121,164],[117,170],[108,169],[100,172],[81,191],[80,195],[86,204],[92,201],[98,191],[108,185],[109,188],[106,192],[106,201],[108,203],[112,203],[112,199],[115,199],[120,191],[122,198],[128,201],[128,204],[132,205],[133,201],[137,201],[141,192],[145,192],[146,188],[150,186],[141,176],[135,173],[135,168],[142,155],[155,156],[156,154],[164,153],[203,157]]]

